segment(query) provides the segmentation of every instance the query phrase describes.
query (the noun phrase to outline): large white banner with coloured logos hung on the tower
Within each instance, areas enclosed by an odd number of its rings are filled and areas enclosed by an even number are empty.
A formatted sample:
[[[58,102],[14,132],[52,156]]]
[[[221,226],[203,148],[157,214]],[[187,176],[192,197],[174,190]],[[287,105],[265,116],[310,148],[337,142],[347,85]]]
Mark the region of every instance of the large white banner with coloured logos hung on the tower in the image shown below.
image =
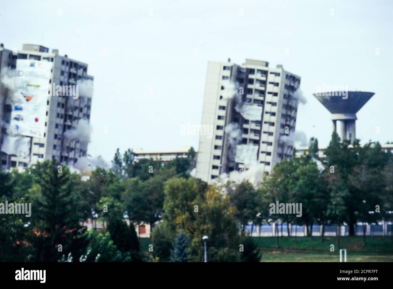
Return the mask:
[[[51,62],[18,59],[11,100],[11,128],[19,135],[44,137]]]

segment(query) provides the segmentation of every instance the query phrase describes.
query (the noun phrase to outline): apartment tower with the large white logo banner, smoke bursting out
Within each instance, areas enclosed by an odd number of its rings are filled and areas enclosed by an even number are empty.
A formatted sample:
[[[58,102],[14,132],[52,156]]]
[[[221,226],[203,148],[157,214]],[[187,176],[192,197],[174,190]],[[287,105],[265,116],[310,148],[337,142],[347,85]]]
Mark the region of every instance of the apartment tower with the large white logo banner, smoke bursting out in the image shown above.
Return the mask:
[[[1,48],[1,168],[24,169],[48,159],[74,165],[78,158],[86,156],[89,142],[90,132],[81,133],[83,128],[89,129],[90,121],[93,77],[87,74],[88,65],[67,55],[61,56],[56,49],[49,52],[41,45],[24,44],[23,49],[18,51],[4,49],[3,44]],[[5,78],[12,80],[15,75],[28,79],[22,80],[22,85],[19,83],[13,87],[17,92],[10,91],[9,83],[7,87],[4,81]],[[43,83],[47,83],[46,88]],[[69,87],[70,90],[64,93],[64,89],[61,89],[60,95],[56,95],[55,89],[51,88],[57,85]],[[31,96],[18,92],[19,89],[28,91],[29,88],[39,87],[46,89],[46,92]],[[76,87],[79,87],[79,95],[70,95],[72,91],[78,91]],[[26,103],[39,102],[28,107],[22,98],[21,105],[16,105],[15,93],[17,98],[23,96]],[[42,117],[31,118],[35,113]],[[15,125],[18,121],[23,123]],[[79,126],[82,122],[86,123],[83,127]],[[65,137],[67,131],[73,131],[68,138]]]

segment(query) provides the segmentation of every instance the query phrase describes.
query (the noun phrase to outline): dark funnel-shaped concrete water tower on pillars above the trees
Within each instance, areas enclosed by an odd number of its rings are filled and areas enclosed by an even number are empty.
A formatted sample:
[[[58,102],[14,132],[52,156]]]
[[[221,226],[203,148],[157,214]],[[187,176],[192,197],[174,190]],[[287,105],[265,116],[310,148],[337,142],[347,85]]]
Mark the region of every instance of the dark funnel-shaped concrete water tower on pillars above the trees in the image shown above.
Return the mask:
[[[348,91],[313,94],[332,114],[333,131],[337,131],[337,121],[340,122],[340,138],[351,140],[356,138],[356,112],[374,95],[374,92]]]

